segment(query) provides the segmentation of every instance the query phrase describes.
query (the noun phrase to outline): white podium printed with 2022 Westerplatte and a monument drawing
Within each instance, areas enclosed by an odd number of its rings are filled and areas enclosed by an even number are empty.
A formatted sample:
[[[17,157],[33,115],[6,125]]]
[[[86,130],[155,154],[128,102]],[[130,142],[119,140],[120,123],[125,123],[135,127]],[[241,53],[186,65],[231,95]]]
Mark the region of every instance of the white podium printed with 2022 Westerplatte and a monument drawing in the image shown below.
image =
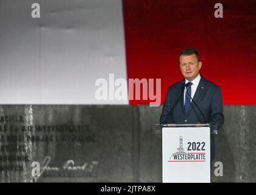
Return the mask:
[[[162,127],[163,183],[210,183],[210,125]]]

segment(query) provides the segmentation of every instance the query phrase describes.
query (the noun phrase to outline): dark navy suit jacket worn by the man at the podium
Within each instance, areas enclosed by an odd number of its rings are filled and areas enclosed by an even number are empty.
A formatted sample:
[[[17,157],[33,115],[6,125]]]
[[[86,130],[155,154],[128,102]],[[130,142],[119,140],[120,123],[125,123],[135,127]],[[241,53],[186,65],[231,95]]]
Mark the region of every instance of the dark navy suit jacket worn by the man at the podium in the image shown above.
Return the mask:
[[[196,124],[198,122],[215,122],[218,124],[219,129],[224,123],[221,88],[214,83],[205,80],[201,76],[193,100],[201,109],[202,113],[204,113],[204,116],[202,116],[193,101],[191,102],[188,115],[186,115],[183,93],[184,83],[185,80],[182,80],[168,88],[168,93],[160,116],[160,124]],[[213,135],[211,135],[211,159],[213,159],[214,153],[214,138]]]

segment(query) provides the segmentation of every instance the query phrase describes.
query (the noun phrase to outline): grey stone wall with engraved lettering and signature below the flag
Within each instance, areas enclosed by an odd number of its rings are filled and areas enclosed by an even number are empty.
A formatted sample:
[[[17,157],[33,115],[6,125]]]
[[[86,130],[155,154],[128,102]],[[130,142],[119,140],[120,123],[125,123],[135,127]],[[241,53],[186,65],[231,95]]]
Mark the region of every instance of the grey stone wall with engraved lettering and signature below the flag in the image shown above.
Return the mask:
[[[1,182],[162,182],[162,107],[1,105]],[[212,182],[256,182],[256,107],[226,106]],[[49,161],[47,163],[47,160]],[[38,161],[40,177],[32,162]],[[213,174],[215,161],[224,176]]]

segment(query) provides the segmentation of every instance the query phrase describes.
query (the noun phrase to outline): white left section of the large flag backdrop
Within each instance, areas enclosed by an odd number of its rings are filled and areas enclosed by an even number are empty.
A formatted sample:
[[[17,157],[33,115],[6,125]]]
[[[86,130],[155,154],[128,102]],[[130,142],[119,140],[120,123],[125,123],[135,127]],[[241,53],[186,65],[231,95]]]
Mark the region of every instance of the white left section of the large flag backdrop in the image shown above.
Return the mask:
[[[0,104],[128,104],[122,1],[36,2],[0,2]]]

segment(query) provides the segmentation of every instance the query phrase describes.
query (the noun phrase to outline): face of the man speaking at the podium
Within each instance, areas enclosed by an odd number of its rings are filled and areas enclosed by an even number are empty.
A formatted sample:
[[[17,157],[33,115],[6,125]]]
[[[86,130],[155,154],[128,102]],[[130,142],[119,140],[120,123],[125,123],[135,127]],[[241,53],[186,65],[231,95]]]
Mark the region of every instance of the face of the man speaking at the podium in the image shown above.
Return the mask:
[[[201,67],[202,62],[198,62],[195,54],[180,55],[180,71],[188,81],[196,79]]]

